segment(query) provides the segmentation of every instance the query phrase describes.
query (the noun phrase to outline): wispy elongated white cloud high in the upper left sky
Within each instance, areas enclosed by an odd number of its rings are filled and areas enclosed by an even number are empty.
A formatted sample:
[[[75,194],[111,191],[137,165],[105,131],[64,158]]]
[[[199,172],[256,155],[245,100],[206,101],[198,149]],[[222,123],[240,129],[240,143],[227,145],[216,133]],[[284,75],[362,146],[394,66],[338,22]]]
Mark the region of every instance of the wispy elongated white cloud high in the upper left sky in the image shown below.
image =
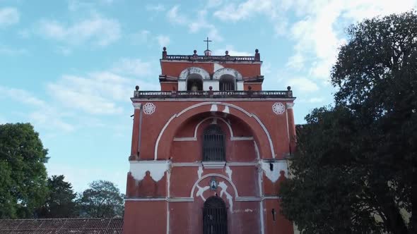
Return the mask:
[[[55,39],[68,44],[91,44],[105,47],[121,37],[120,25],[117,20],[94,15],[74,25],[63,25],[56,20],[41,20],[39,33],[45,38]]]

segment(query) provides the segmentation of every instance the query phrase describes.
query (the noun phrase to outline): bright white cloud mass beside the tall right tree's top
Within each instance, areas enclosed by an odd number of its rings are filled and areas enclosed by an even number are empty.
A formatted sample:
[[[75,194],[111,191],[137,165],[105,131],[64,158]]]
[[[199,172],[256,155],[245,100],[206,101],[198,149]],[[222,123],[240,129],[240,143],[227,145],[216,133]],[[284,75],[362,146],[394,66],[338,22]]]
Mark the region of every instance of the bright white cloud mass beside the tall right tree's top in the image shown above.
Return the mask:
[[[343,29],[348,23],[409,11],[416,4],[416,0],[404,0],[401,4],[371,0],[294,1],[293,10],[303,18],[291,26],[290,38],[295,41],[295,56],[288,59],[287,65],[295,69],[304,65],[312,77],[327,80],[338,47],[346,42]],[[310,58],[310,64],[304,64],[304,58]]]

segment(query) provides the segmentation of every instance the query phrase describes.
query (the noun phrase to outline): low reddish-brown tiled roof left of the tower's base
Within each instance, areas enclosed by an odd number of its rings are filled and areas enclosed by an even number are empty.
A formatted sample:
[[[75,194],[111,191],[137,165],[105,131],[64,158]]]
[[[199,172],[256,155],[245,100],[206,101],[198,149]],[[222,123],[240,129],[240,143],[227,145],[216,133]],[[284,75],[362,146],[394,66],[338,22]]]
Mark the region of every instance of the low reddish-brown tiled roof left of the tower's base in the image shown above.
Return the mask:
[[[0,219],[0,234],[122,234],[123,218]]]

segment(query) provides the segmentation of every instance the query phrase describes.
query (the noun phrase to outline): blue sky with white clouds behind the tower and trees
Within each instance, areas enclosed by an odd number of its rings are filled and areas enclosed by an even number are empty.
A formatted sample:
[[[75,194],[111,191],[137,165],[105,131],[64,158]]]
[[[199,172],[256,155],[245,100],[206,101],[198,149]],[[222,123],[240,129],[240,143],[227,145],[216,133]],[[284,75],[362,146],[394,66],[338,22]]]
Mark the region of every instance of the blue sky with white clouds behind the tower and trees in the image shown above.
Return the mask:
[[[329,70],[344,29],[409,11],[417,0],[0,0],[0,123],[30,122],[49,149],[49,175],[77,192],[96,179],[124,192],[134,86],[158,90],[168,54],[253,55],[264,90],[298,99],[295,121],[331,104]]]

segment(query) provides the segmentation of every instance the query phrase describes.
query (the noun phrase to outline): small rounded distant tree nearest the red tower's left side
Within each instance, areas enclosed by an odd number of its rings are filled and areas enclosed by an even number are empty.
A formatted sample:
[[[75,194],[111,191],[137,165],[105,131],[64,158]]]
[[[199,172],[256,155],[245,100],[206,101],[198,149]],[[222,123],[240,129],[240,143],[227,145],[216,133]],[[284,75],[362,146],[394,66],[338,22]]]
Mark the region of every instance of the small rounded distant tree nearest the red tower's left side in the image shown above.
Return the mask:
[[[81,216],[91,218],[122,217],[124,195],[110,181],[95,180],[85,190],[80,199]]]

